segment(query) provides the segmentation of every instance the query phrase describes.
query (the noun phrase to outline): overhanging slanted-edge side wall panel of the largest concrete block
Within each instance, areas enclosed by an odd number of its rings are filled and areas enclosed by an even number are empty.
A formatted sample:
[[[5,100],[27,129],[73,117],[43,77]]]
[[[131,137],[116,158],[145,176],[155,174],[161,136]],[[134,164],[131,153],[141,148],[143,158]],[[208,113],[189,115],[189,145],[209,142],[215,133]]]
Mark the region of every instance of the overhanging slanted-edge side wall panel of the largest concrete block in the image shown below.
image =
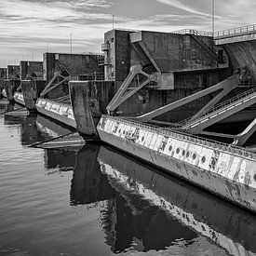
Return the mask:
[[[170,34],[142,31],[141,41],[145,44],[161,72],[200,70],[216,67],[206,51],[189,34]],[[131,34],[134,36],[135,34]],[[213,39],[209,36],[197,36],[209,47]]]

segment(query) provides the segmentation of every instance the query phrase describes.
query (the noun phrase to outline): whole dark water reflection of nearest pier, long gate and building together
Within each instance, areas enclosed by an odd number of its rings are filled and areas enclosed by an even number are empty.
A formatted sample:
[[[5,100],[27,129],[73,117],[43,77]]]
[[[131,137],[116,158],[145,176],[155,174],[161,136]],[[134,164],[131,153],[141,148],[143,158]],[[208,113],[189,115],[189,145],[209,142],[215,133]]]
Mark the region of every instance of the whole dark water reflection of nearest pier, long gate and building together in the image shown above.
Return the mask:
[[[77,155],[71,204],[102,200],[101,225],[115,253],[166,249],[177,241],[186,247],[197,236],[232,255],[256,253],[256,219],[249,212],[113,149],[87,145]]]

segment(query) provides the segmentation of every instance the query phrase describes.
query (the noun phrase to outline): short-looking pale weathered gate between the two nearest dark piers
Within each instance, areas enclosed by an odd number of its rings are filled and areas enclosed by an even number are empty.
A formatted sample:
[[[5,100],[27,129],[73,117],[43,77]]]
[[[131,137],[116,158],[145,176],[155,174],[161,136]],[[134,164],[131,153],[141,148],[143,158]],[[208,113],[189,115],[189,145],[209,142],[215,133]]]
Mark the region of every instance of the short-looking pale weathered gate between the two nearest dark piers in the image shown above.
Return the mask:
[[[38,98],[35,106],[37,112],[40,114],[47,115],[63,125],[76,128],[74,114],[70,104]]]

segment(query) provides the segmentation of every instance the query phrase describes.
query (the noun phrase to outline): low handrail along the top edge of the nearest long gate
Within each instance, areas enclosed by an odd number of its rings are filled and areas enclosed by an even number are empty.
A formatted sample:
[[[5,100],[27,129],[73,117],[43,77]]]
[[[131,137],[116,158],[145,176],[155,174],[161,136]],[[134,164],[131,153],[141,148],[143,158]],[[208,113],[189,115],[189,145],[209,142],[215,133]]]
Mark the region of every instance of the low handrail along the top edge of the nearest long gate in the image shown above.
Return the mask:
[[[115,119],[116,121],[125,122],[128,125],[137,126],[139,128],[146,128],[146,129],[150,129],[155,132],[160,131],[164,135],[171,136],[171,137],[174,137],[174,138],[177,138],[180,140],[195,142],[195,143],[198,143],[201,145],[213,147],[214,149],[218,148],[223,151],[228,151],[228,152],[236,154],[236,155],[242,155],[244,157],[251,158],[253,160],[256,159],[256,154],[249,152],[248,150],[241,148],[239,146],[233,145],[233,144],[227,144],[227,143],[224,143],[221,141],[213,141],[213,140],[201,138],[201,137],[198,137],[198,136],[195,136],[192,134],[188,134],[188,133],[182,132],[180,130],[171,129],[171,128],[159,128],[159,127],[155,127],[153,125],[144,124],[144,123],[126,119],[126,118],[123,118],[120,116],[112,116],[112,115],[101,115],[101,116]]]

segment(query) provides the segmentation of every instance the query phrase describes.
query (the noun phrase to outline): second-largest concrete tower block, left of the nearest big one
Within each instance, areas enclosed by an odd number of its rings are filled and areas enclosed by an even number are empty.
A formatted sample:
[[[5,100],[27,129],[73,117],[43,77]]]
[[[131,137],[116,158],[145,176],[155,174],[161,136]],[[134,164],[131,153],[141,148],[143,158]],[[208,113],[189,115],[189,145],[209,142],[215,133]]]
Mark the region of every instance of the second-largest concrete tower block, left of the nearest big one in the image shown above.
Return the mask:
[[[94,54],[66,54],[66,53],[44,53],[44,79],[47,82],[53,77],[55,72],[62,72],[61,65],[71,75],[102,73],[103,67],[98,63],[98,56]],[[67,75],[67,74],[65,74]]]

